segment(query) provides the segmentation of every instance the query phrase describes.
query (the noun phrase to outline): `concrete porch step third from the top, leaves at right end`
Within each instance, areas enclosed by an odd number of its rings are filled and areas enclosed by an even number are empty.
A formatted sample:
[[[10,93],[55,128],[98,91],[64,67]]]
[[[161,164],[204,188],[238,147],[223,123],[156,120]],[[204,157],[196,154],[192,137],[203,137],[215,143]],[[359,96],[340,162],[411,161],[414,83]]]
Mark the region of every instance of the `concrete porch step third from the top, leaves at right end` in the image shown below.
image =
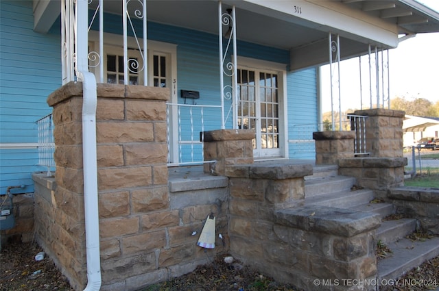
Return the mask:
[[[351,208],[364,205],[374,198],[372,190],[345,190],[327,194],[313,195],[307,197],[305,194],[305,204],[324,205],[337,208]]]

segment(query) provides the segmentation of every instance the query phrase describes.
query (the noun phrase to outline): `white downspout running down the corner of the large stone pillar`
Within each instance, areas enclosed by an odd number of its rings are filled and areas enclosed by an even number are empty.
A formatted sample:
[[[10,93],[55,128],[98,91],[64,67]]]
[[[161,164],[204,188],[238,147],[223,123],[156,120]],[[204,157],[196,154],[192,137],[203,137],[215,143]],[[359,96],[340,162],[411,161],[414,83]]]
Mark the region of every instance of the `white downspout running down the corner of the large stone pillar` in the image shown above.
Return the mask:
[[[78,0],[76,8],[77,75],[82,81],[82,162],[84,170],[84,214],[87,260],[87,286],[84,291],[101,288],[99,251],[99,211],[97,199],[96,107],[95,75],[88,72],[88,2]],[[84,19],[85,18],[85,19]]]

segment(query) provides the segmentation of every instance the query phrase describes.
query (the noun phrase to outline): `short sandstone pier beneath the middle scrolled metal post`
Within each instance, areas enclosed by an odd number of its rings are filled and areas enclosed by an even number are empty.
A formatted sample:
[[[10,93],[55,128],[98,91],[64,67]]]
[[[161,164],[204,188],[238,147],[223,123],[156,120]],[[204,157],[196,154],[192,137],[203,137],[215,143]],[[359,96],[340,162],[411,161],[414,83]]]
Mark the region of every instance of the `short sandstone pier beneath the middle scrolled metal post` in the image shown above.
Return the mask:
[[[254,130],[219,129],[204,132],[204,173],[224,175],[228,165],[252,164]]]

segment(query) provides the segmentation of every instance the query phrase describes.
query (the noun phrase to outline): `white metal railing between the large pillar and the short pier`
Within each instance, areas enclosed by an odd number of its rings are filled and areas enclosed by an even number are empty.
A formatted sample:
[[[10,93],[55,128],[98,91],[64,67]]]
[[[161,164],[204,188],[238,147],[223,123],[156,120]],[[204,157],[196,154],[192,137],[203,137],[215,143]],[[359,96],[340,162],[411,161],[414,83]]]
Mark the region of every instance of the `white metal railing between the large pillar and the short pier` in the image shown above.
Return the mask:
[[[168,165],[204,163],[204,131],[221,127],[221,105],[167,103],[166,112]]]

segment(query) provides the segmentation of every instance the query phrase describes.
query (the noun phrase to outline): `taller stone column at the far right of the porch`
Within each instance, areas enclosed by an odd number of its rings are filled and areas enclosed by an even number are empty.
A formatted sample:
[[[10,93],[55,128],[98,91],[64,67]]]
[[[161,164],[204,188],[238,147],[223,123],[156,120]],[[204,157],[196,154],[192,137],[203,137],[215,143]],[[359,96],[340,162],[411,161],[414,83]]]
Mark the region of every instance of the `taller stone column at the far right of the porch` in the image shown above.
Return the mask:
[[[366,118],[366,151],[370,157],[403,157],[405,112],[382,108],[356,110]]]

